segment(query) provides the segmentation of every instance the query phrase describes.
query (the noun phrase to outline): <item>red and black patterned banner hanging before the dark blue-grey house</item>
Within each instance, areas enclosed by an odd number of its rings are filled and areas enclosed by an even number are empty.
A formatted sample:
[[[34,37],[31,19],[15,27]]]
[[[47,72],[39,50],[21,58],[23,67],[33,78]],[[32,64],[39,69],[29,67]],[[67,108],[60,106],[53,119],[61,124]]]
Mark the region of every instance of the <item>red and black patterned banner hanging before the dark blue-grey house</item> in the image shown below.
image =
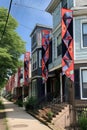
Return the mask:
[[[50,31],[42,30],[42,79],[43,79],[43,83],[45,83],[48,78],[49,41],[50,41]]]

